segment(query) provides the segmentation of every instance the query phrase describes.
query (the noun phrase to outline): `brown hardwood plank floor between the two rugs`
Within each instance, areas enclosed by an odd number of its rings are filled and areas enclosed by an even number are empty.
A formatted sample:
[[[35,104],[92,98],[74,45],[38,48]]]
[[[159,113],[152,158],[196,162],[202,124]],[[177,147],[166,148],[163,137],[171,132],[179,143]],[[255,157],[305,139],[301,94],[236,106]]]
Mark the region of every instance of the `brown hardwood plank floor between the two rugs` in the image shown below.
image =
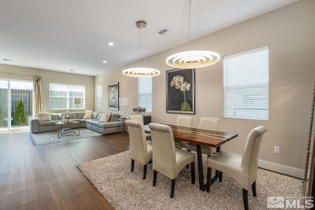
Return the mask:
[[[0,132],[0,210],[113,209],[76,165],[126,150],[126,133],[34,147],[29,131]]]

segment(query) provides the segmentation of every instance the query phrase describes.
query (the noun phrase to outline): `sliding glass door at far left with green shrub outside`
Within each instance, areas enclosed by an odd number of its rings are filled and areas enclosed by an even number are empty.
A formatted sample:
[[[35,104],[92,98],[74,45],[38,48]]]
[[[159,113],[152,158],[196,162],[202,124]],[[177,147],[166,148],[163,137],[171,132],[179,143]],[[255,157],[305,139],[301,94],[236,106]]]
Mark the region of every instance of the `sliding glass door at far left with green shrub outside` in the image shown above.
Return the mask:
[[[0,131],[27,127],[33,115],[33,82],[0,80]]]

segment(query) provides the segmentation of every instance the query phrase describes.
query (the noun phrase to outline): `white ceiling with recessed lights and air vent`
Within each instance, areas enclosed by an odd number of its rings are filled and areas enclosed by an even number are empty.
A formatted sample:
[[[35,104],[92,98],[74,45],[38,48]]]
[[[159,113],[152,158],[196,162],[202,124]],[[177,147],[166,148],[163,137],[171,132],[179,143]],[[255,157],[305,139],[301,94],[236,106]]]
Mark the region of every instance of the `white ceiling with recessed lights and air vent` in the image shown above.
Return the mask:
[[[215,32],[295,1],[202,0],[202,4],[210,31]],[[139,20],[148,24],[152,55],[173,48],[184,3],[0,0],[0,63],[96,76],[136,59],[135,23]],[[165,28],[172,33],[158,34]]]

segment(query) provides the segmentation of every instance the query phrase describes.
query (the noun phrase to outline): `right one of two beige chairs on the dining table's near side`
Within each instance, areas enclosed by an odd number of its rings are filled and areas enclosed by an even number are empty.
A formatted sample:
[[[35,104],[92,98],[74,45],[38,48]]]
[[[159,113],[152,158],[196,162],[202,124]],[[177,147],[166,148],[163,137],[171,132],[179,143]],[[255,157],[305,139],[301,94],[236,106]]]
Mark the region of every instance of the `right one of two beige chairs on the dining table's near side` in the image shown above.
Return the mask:
[[[190,163],[191,183],[195,183],[195,154],[175,148],[172,129],[169,125],[149,123],[153,147],[153,186],[156,186],[158,172],[170,178],[171,198],[174,197],[175,179],[180,171]]]

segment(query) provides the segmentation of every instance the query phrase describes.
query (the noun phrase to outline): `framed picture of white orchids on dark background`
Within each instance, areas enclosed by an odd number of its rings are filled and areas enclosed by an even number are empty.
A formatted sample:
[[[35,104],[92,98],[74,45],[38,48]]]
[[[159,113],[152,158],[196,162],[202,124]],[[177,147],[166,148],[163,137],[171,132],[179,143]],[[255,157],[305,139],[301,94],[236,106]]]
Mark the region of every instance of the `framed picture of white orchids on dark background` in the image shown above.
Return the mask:
[[[166,71],[166,113],[195,114],[195,69]]]

